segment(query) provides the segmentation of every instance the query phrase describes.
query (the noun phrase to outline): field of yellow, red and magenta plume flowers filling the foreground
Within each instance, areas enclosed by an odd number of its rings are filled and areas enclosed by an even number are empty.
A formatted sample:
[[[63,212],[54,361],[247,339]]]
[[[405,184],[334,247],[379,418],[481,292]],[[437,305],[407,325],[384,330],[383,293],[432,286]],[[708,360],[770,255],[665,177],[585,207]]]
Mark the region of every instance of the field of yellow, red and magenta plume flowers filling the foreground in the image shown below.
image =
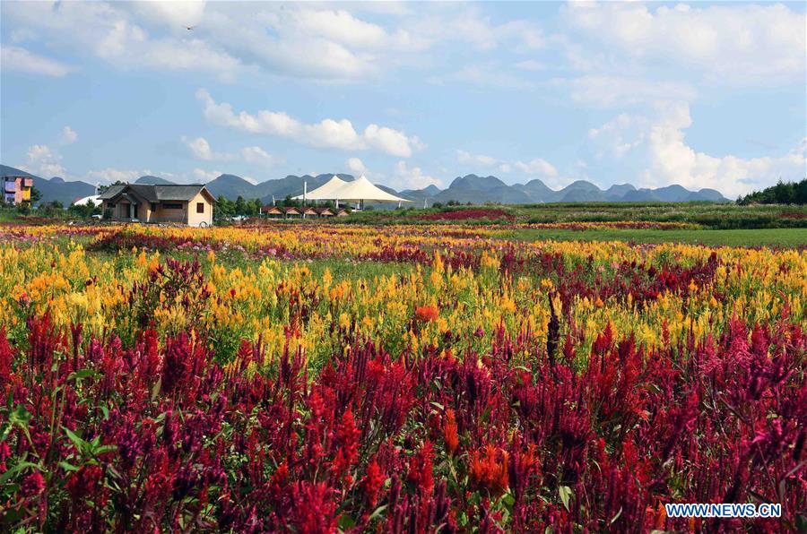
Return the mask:
[[[0,530],[807,528],[803,249],[0,237]]]

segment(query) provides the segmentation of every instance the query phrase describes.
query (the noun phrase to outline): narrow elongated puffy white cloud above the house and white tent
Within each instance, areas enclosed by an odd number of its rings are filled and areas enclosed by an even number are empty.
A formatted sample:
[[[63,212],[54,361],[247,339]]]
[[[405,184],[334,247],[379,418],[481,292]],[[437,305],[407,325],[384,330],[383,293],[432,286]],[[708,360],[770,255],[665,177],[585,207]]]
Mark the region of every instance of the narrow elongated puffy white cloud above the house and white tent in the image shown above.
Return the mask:
[[[203,103],[204,117],[208,122],[250,134],[275,135],[317,148],[351,151],[375,149],[404,158],[422,147],[417,137],[408,137],[404,132],[386,126],[368,125],[359,134],[347,119],[337,121],[326,118],[319,123],[307,125],[282,111],[261,109],[256,115],[250,115],[246,111],[236,114],[230,104],[216,103],[206,90],[196,91],[196,98]]]

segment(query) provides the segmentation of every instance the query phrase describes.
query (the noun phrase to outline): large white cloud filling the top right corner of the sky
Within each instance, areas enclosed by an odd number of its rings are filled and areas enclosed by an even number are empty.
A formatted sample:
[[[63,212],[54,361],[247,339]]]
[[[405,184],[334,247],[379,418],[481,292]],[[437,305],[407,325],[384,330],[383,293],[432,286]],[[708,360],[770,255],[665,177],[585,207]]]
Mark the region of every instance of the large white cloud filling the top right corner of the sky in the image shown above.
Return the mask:
[[[561,11],[595,41],[587,48],[599,64],[679,67],[720,84],[804,81],[804,13],[783,4],[570,3]]]

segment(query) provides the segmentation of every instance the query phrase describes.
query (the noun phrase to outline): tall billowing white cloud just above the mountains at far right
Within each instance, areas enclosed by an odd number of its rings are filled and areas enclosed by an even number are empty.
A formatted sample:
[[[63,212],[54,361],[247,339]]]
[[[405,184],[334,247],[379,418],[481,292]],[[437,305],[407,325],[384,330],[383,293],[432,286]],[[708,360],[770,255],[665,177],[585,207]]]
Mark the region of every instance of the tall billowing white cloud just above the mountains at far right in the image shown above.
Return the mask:
[[[807,142],[779,157],[743,159],[711,156],[690,147],[684,130],[692,125],[686,102],[659,103],[654,116],[622,114],[589,132],[598,157],[637,168],[640,185],[680,184],[688,189],[709,187],[729,197],[766,187],[781,178],[807,175]]]

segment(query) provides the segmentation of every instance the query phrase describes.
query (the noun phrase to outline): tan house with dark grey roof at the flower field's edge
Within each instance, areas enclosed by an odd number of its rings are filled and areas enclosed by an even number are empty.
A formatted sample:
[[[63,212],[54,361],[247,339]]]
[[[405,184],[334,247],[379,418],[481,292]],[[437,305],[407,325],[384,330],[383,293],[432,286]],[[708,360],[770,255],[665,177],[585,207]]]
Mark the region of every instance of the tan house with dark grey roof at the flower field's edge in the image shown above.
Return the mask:
[[[215,199],[204,185],[110,185],[99,200],[112,220],[213,224]]]

